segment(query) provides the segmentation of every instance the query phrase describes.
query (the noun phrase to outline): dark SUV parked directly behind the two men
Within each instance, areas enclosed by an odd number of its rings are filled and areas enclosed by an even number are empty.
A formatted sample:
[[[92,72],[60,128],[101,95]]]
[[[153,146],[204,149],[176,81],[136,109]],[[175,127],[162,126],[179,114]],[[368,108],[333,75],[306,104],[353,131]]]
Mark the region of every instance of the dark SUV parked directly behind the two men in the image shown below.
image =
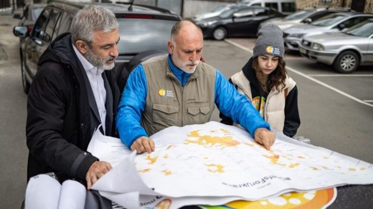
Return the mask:
[[[20,46],[22,83],[25,93],[38,70],[38,60],[58,35],[69,32],[74,15],[87,3],[54,0],[49,3],[31,33],[25,26],[16,26],[14,35],[26,37]],[[167,53],[171,27],[181,17],[158,7],[100,3],[111,10],[119,23],[119,56],[115,62],[118,84],[123,90],[127,76],[139,62]]]

